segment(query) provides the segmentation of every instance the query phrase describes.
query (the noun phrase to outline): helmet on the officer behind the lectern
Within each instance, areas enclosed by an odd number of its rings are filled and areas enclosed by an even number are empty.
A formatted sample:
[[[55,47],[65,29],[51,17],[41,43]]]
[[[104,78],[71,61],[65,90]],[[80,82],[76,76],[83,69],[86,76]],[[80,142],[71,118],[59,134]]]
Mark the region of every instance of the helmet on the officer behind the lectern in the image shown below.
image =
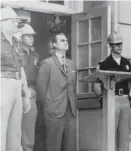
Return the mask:
[[[109,36],[108,36],[108,43],[109,44],[116,44],[116,43],[122,43],[123,42],[123,38],[122,36],[116,32],[113,31]]]

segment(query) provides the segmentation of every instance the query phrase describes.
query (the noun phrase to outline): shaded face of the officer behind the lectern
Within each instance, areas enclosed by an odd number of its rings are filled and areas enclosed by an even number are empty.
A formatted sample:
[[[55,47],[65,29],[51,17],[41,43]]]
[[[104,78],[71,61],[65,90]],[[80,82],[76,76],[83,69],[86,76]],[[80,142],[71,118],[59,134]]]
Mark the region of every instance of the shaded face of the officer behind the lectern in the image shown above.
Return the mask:
[[[112,51],[116,54],[121,54],[122,52],[122,43],[111,44]]]

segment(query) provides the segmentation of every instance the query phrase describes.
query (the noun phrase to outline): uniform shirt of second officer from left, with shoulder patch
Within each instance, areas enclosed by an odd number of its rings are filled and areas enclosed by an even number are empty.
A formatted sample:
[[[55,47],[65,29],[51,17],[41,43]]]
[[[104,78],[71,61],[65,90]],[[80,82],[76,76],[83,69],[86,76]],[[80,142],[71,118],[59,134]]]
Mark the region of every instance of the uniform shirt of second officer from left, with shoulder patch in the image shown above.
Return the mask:
[[[20,45],[23,52],[23,66],[25,69],[25,74],[27,77],[28,84],[36,83],[37,68],[38,68],[38,54],[34,48],[29,48],[23,45]]]

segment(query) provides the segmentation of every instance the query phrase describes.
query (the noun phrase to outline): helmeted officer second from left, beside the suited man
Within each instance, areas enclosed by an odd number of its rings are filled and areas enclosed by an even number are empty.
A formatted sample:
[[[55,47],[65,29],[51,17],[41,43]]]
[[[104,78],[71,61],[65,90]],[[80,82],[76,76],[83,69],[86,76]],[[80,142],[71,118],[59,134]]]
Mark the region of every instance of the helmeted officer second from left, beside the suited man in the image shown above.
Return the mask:
[[[34,29],[29,24],[24,24],[20,28],[21,35],[20,49],[23,52],[23,66],[27,76],[27,83],[31,92],[31,110],[23,115],[22,120],[22,147],[24,151],[33,151],[34,135],[35,135],[35,122],[36,122],[36,76],[39,56],[34,49]]]

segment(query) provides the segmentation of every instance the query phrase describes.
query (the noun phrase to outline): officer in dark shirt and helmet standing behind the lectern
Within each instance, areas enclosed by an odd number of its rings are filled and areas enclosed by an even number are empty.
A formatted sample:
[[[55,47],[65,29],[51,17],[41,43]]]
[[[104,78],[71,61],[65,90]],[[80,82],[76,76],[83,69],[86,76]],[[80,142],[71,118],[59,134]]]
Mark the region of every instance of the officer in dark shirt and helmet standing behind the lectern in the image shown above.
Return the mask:
[[[100,70],[131,72],[130,62],[121,56],[123,40],[117,32],[112,32],[108,37],[111,54],[104,61],[100,62]],[[115,85],[115,127],[116,127],[116,148],[117,151],[128,151],[129,146],[129,123],[131,84],[129,80],[119,81],[116,79]],[[101,95],[100,84],[95,84],[97,95]]]

